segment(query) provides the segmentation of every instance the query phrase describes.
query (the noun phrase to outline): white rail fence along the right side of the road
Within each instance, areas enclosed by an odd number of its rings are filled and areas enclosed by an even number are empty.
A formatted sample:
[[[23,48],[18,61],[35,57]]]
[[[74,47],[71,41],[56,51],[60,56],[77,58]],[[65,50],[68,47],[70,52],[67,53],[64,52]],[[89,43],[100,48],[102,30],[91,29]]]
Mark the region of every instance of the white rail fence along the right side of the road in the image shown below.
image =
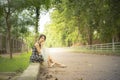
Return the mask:
[[[116,53],[116,52],[120,52],[120,42],[84,45],[84,46],[79,46],[79,48],[92,50],[92,51],[115,52]]]

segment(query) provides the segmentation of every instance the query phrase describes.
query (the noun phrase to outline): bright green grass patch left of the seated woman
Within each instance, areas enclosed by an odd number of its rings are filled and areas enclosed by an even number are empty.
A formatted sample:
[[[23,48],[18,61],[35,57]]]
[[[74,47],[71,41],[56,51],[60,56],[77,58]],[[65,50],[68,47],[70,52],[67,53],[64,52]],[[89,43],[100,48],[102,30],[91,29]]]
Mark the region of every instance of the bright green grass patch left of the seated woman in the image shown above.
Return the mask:
[[[14,54],[13,54],[14,55]],[[9,57],[0,57],[0,72],[22,72],[29,65],[30,53]]]

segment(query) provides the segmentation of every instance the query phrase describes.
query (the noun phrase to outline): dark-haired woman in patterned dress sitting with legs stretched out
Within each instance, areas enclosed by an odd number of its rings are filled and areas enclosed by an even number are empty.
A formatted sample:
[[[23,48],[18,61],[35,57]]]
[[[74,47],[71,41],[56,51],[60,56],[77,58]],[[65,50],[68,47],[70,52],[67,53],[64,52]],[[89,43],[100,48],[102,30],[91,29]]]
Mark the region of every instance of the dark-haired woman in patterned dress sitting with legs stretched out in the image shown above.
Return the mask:
[[[42,48],[45,40],[46,40],[46,36],[44,34],[41,34],[39,36],[38,41],[34,44],[30,61],[42,63],[44,62],[45,59],[49,67],[53,67],[53,66],[66,67],[63,64],[53,61],[51,56],[45,53],[44,49]]]

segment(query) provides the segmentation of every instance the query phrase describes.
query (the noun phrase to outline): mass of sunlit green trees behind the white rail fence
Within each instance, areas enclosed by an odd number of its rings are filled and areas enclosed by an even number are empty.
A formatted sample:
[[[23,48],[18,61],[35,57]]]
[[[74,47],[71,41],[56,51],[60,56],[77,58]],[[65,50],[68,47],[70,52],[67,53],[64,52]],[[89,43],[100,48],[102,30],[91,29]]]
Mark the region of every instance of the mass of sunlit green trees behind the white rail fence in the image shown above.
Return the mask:
[[[120,41],[119,4],[119,0],[59,0],[46,34],[57,31],[55,44],[62,42],[64,46]],[[54,40],[56,34],[51,35]]]

